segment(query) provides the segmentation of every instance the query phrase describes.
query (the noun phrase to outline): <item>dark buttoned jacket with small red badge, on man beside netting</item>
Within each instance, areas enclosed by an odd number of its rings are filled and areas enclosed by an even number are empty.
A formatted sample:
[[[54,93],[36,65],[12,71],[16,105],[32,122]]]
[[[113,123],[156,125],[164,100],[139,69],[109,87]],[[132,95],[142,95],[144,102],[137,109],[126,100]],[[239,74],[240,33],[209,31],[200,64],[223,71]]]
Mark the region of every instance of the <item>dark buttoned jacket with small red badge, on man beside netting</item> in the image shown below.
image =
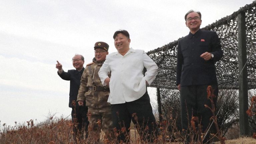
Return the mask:
[[[200,57],[210,52],[214,55],[208,61]],[[215,62],[223,55],[218,35],[214,31],[199,29],[189,33],[178,43],[176,85],[212,85],[217,84]]]

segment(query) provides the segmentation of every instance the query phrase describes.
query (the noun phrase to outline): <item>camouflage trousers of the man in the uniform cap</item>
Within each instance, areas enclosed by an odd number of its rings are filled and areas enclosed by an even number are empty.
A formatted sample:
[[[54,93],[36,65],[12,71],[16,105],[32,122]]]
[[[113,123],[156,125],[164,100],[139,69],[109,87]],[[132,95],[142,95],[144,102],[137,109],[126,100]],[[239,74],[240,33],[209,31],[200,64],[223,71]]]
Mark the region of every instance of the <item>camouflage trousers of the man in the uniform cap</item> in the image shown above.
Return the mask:
[[[88,119],[90,121],[88,131],[89,138],[94,139],[97,137],[101,130],[105,133],[105,138],[112,139],[113,136],[113,122],[111,116],[111,107],[93,108],[88,107]],[[93,138],[94,137],[94,138]]]

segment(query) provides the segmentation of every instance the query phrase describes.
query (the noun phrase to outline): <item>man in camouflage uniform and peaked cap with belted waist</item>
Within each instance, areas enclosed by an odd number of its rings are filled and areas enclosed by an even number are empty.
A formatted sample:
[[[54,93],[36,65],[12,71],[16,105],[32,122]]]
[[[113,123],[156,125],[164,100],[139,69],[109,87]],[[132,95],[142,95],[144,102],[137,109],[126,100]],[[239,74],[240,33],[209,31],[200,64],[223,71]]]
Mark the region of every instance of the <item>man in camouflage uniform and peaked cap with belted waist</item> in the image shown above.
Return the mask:
[[[81,77],[81,84],[78,91],[77,101],[81,106],[86,101],[88,106],[89,139],[90,141],[99,140],[101,129],[110,140],[113,130],[111,118],[111,105],[107,102],[109,87],[103,86],[98,72],[106,59],[109,45],[105,42],[96,42],[94,46],[95,58],[93,62],[86,65]]]

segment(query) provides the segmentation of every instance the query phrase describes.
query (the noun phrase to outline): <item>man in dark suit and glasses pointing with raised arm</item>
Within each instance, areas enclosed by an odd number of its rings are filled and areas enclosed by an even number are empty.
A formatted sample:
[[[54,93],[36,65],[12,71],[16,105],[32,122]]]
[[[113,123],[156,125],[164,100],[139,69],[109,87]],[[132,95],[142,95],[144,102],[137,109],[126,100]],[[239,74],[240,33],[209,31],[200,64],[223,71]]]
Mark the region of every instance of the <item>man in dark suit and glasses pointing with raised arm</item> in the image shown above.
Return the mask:
[[[78,90],[80,87],[81,76],[84,72],[84,57],[82,55],[75,55],[72,58],[73,66],[75,68],[65,72],[62,69],[62,64],[57,61],[56,68],[58,69],[58,75],[64,79],[70,81],[70,90],[69,90],[69,107],[72,108],[71,116],[72,122],[74,123],[73,132],[75,136],[79,139],[83,137],[84,132],[86,137],[88,135],[88,125],[89,121],[87,118],[87,106],[79,106],[76,102]],[[76,138],[74,137],[76,140]]]

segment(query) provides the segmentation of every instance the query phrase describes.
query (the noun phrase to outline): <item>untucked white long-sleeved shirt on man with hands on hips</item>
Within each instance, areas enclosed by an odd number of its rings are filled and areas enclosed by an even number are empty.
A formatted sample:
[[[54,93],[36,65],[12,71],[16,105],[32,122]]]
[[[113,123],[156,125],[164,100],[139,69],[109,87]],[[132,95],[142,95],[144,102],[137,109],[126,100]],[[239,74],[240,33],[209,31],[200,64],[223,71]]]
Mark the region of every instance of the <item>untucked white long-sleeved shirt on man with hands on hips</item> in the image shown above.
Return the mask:
[[[145,76],[144,67],[147,69]],[[146,92],[146,81],[149,85],[153,82],[157,69],[144,50],[130,48],[124,56],[118,52],[108,54],[98,74],[102,84],[106,85],[104,81],[111,72],[108,102],[121,104],[142,97]]]

